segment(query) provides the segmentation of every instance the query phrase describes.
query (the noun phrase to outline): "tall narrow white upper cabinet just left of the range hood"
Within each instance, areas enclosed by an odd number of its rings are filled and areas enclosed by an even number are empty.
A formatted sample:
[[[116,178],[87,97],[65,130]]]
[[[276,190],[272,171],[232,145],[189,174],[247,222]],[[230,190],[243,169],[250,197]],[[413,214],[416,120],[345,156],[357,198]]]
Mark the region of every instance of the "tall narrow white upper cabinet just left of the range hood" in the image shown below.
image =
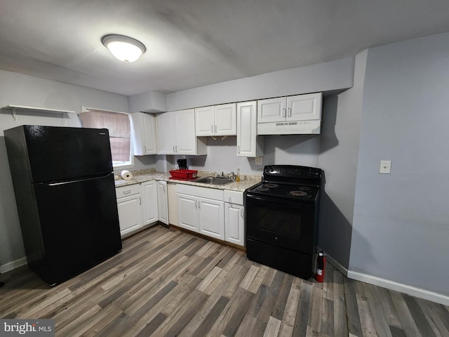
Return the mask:
[[[237,104],[237,156],[263,156],[263,136],[257,136],[255,102]]]

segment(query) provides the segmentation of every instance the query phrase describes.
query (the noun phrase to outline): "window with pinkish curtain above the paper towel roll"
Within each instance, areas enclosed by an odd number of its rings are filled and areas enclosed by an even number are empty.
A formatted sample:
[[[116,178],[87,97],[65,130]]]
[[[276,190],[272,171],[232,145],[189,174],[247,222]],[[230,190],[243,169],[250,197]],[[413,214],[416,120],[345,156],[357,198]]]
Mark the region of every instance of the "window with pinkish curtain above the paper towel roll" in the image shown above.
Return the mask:
[[[133,164],[130,145],[130,121],[125,112],[88,109],[78,114],[84,128],[107,128],[114,167]]]

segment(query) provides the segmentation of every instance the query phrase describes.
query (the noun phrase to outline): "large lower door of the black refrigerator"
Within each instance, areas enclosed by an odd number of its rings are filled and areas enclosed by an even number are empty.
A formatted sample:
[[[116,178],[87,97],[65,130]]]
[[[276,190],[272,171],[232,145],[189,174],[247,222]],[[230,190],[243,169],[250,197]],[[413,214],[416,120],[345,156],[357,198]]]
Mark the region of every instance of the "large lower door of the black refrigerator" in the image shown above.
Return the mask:
[[[112,173],[34,184],[34,190],[43,244],[43,260],[34,271],[48,284],[64,282],[121,250]]]

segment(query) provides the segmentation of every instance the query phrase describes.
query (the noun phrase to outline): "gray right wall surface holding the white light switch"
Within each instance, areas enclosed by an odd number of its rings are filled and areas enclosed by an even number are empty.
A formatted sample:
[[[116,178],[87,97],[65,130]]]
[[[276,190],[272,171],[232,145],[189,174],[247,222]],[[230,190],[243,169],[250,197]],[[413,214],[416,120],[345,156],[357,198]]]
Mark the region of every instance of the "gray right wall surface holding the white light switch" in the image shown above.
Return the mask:
[[[449,295],[449,34],[372,48],[349,269]],[[379,161],[391,160],[391,174]]]

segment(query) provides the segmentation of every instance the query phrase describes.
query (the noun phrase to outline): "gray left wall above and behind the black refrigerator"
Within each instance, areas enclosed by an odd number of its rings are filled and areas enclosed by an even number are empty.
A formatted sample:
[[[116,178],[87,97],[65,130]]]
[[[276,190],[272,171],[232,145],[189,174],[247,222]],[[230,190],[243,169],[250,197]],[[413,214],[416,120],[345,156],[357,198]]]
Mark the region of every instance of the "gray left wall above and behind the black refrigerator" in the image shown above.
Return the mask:
[[[0,70],[0,107],[6,105],[27,105],[48,109],[81,112],[81,106],[99,107],[105,110],[128,112],[126,96],[107,93],[80,86],[62,84],[37,77],[30,77]],[[66,125],[60,115],[39,116],[32,113],[18,113],[17,121],[11,110],[0,109],[0,267],[8,270],[16,263],[24,263],[25,250],[15,205],[11,174],[8,166],[3,131],[22,124],[79,127],[76,114],[69,114]]]

